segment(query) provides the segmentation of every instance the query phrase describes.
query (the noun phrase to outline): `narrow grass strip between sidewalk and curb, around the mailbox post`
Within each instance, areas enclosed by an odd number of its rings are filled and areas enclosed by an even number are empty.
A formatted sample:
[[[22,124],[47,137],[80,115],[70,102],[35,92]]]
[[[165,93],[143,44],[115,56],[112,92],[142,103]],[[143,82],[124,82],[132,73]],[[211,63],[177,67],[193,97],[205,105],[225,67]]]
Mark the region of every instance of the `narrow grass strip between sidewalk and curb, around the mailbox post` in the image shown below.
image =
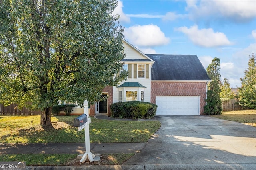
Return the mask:
[[[134,154],[102,154],[100,165],[121,165]],[[26,166],[60,166],[60,165],[90,165],[80,163],[77,154],[5,154],[0,155],[4,162],[25,161]]]

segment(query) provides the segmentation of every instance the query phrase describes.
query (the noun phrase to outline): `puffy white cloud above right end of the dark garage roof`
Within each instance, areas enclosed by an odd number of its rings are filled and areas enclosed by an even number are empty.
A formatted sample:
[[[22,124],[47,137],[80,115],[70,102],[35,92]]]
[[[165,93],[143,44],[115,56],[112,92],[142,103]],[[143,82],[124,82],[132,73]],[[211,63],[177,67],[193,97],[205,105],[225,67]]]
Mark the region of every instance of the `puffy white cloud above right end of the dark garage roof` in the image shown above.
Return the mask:
[[[231,45],[226,35],[221,32],[214,32],[213,29],[198,29],[197,25],[190,28],[179,27],[176,31],[183,32],[195,44],[201,47],[219,47]]]

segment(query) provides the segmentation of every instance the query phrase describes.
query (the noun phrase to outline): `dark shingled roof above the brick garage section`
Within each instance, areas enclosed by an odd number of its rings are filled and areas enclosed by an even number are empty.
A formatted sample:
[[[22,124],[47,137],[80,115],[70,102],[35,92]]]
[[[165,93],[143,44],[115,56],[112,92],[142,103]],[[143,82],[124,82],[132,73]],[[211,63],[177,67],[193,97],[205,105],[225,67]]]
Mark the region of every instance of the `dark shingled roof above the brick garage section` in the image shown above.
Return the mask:
[[[155,61],[151,80],[210,80],[196,55],[146,55]]]

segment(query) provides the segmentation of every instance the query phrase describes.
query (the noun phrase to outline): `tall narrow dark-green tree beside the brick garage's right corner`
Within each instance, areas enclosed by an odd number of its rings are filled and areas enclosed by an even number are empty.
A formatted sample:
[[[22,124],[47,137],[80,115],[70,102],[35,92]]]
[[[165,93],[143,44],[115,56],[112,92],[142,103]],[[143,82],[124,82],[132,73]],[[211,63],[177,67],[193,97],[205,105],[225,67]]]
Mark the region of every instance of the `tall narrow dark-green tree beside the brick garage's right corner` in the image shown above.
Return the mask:
[[[204,106],[204,113],[207,115],[220,115],[222,111],[220,100],[220,59],[215,57],[206,68],[206,72],[212,81],[208,84],[207,104]]]

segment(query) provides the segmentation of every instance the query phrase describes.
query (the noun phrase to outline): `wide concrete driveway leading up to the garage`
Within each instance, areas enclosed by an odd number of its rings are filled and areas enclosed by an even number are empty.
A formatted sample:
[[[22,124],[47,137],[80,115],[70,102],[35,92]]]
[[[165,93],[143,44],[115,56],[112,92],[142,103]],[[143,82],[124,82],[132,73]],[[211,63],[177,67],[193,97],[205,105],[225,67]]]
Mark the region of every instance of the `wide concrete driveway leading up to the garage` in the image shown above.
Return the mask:
[[[157,115],[160,129],[123,165],[147,169],[256,170],[256,128],[205,115]]]

